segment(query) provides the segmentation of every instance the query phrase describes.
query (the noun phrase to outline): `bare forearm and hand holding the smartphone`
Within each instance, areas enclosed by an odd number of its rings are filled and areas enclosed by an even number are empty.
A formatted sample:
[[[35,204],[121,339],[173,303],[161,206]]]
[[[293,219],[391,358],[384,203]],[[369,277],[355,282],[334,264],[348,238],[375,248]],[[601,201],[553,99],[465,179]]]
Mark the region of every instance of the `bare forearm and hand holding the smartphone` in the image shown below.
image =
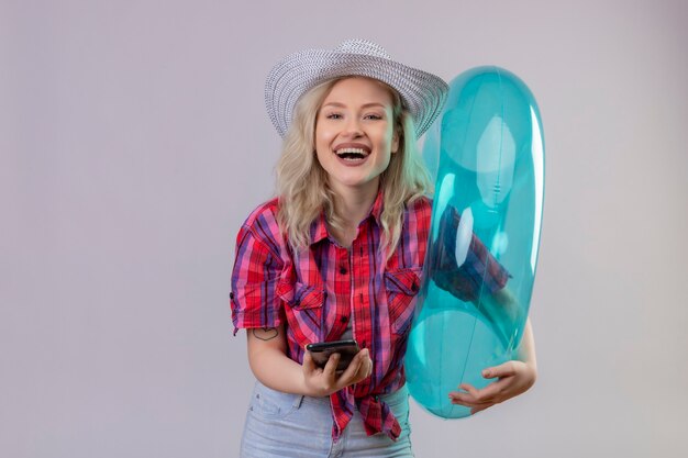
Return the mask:
[[[285,326],[246,329],[248,365],[260,383],[285,393],[326,396],[349,384],[357,383],[373,371],[368,349],[359,351],[346,370],[336,377],[339,354],[324,368],[313,362],[306,351],[303,366],[287,356]]]

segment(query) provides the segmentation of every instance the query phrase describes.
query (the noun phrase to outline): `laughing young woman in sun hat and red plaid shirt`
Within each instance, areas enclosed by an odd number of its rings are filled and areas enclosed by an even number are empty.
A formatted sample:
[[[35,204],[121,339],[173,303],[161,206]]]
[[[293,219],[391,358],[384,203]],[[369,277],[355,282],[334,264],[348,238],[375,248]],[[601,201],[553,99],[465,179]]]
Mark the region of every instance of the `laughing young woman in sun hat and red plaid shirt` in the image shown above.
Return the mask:
[[[257,379],[242,457],[413,456],[402,362],[431,214],[415,141],[447,90],[360,40],[268,76],[278,196],[242,225],[232,275]],[[304,348],[343,338],[362,348],[343,372],[339,355],[319,367]],[[536,376],[530,324],[520,355],[487,368],[498,381],[484,390],[447,395],[477,412],[522,393]]]

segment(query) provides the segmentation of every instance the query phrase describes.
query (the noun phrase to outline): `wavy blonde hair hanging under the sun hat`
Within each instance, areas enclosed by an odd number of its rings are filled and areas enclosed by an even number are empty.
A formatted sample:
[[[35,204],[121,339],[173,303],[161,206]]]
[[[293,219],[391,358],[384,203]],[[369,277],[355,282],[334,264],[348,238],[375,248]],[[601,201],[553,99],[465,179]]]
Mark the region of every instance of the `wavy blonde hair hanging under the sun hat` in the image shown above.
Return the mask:
[[[328,174],[314,154],[314,137],[320,105],[332,87],[345,78],[348,77],[328,80],[303,93],[293,109],[291,125],[285,136],[282,154],[276,168],[279,196],[277,219],[293,249],[303,249],[310,244],[311,224],[320,217],[322,211],[331,226],[344,228],[344,219],[336,212]],[[391,155],[389,166],[380,175],[384,209],[380,215],[382,236],[379,252],[389,259],[401,236],[406,204],[430,193],[431,185],[430,175],[415,146],[413,119],[402,108],[399,92],[378,82],[392,96],[393,129],[399,135],[399,149]]]

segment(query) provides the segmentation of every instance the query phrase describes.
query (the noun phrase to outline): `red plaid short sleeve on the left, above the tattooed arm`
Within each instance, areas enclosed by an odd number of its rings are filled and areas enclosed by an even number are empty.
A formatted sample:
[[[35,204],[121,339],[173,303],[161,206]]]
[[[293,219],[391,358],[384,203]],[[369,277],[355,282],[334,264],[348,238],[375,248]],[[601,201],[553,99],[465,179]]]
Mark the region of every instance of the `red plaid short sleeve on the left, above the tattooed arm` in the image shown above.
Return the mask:
[[[230,293],[234,335],[238,328],[277,327],[282,323],[282,302],[277,294],[282,267],[269,241],[257,237],[252,227],[242,226],[236,236]]]

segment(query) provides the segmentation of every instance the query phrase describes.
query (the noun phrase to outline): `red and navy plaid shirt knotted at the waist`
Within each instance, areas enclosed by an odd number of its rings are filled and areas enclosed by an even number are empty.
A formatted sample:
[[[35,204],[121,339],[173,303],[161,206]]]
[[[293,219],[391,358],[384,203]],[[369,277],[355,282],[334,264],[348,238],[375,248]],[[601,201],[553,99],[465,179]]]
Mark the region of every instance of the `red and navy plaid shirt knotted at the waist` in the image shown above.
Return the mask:
[[[311,225],[310,248],[295,253],[277,224],[277,199],[258,206],[238,232],[230,294],[234,334],[240,327],[284,323],[288,356],[302,364],[307,344],[336,340],[351,322],[354,338],[370,351],[370,377],[330,396],[335,439],[354,409],[360,412],[368,435],[385,432],[397,439],[401,432],[378,395],[406,382],[403,356],[425,259],[431,205],[426,198],[407,205],[399,245],[388,261],[378,253],[381,192],[351,248],[334,241],[322,214]],[[481,271],[478,275],[482,277]],[[503,283],[506,279],[498,287]]]

